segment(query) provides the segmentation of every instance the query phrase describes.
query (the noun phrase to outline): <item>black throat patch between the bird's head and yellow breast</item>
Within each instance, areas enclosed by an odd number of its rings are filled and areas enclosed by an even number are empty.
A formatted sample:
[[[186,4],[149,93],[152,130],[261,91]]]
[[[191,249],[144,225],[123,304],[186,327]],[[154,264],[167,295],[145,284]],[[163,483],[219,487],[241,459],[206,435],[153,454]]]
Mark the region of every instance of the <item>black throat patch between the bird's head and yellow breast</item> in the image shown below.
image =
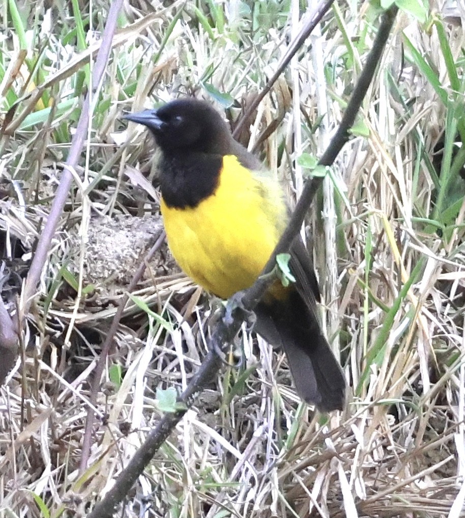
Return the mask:
[[[158,163],[160,189],[170,208],[194,208],[216,191],[223,157],[217,154],[163,152]]]

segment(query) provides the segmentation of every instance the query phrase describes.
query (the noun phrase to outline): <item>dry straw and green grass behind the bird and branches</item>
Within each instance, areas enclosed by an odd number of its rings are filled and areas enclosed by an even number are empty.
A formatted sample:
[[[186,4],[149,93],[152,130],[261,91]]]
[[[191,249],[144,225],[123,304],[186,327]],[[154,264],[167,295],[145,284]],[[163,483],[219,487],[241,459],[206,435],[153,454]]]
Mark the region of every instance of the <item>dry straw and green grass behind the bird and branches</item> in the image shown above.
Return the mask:
[[[1,4],[2,299],[27,326],[0,393],[0,516],[84,516],[205,355],[215,303],[164,246],[131,290],[91,393],[117,304],[161,228],[153,142],[121,114],[197,95],[234,128],[311,7],[125,2],[93,85],[108,2]],[[197,398],[119,515],[465,515],[465,11],[400,7],[330,171],[315,165],[376,35],[374,3],[334,3],[238,136],[291,203],[312,171],[326,175],[306,233],[351,386],[346,411],[303,405],[282,354],[243,327],[246,361]],[[85,148],[29,307],[21,286],[87,93]]]

